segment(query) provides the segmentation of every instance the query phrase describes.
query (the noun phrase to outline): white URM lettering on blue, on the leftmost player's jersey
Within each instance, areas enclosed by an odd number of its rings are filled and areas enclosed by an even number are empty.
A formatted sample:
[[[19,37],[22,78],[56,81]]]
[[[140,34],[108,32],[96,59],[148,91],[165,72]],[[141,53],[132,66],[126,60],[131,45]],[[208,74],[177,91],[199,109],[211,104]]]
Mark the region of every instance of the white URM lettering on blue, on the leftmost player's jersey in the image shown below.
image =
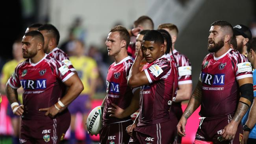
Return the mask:
[[[22,79],[20,83],[23,89],[46,89],[46,79]]]

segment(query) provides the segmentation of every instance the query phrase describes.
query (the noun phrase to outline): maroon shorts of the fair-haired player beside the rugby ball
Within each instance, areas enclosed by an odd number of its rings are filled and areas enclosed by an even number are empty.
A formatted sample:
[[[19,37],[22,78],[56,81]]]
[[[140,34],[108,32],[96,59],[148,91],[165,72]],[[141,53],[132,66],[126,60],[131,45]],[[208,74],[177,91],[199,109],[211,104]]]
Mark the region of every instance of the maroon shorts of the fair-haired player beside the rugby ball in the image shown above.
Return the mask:
[[[130,136],[126,127],[133,124],[132,120],[102,126],[100,129],[100,144],[128,144]]]

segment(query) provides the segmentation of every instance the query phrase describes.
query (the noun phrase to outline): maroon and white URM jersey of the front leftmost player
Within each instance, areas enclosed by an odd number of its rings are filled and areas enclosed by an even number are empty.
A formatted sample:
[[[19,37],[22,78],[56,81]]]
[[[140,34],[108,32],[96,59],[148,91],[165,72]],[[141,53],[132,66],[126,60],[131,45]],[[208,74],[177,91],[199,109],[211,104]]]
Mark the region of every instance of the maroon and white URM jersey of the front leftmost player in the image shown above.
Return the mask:
[[[31,63],[30,59],[19,63],[8,84],[13,89],[20,86],[23,91],[23,118],[28,120],[50,119],[45,116],[47,108],[58,102],[63,94],[62,82],[69,79],[74,73],[61,61],[45,55],[38,63]]]

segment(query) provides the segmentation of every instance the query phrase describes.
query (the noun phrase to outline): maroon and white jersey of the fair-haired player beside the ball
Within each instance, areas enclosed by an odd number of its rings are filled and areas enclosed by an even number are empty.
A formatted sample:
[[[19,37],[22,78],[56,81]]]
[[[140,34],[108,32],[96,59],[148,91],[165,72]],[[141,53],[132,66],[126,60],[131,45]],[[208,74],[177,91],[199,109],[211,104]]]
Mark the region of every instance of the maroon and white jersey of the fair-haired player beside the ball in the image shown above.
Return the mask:
[[[127,78],[132,64],[132,59],[126,57],[119,63],[113,63],[108,68],[106,81],[108,97],[104,106],[103,125],[131,120],[130,116],[123,119],[110,117],[108,108],[113,107],[111,103],[115,103],[122,109],[126,109],[130,105],[133,94],[132,89],[127,86]]]

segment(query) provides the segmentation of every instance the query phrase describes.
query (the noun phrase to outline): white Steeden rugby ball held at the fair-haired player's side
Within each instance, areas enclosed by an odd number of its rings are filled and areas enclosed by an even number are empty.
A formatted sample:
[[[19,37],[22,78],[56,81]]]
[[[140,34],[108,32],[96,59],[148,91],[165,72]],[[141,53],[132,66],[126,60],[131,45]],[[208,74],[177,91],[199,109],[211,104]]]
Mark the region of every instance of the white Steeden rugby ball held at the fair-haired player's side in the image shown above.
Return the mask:
[[[102,113],[103,108],[101,106],[97,106],[88,115],[86,126],[89,133],[93,135],[100,133],[100,129],[102,127]]]

